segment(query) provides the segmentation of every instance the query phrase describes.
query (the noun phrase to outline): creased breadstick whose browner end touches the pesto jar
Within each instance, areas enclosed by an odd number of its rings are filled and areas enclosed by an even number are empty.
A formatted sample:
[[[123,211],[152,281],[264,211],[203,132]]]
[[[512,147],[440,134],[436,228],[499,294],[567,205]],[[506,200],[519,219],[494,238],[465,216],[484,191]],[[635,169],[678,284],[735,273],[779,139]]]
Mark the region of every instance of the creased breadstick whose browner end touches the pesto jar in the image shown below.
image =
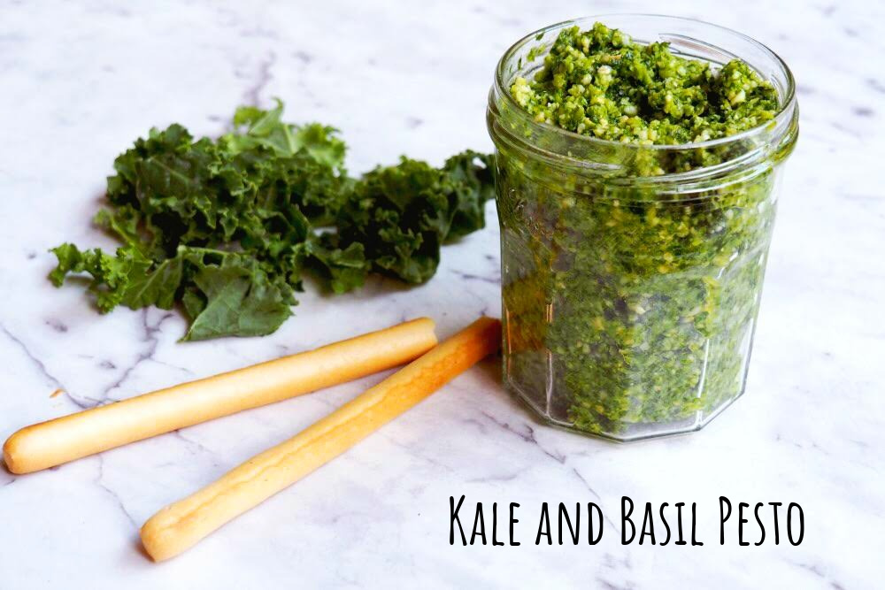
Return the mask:
[[[500,345],[501,323],[481,318],[352,402],[221,479],[160,510],[142,526],[154,561],[177,556],[412,408]]]

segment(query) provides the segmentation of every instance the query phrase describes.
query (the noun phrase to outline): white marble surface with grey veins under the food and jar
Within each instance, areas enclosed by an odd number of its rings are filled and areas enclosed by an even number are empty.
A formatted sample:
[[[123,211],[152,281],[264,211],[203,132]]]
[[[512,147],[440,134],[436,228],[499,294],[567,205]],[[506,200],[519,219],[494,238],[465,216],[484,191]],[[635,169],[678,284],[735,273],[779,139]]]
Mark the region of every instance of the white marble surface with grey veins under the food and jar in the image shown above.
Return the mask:
[[[823,0],[781,3],[775,17],[767,5],[0,2],[0,439],[401,318],[432,315],[445,336],[498,313],[490,205],[489,227],[446,248],[427,285],[309,292],[266,338],[181,344],[175,312],[98,316],[81,288],[50,286],[46,250],[112,246],[89,219],[113,157],[150,126],[218,134],[238,103],[280,96],[289,118],[342,129],[351,170],[401,153],[439,163],[490,149],[486,92],[511,42],[611,11],[750,34],[791,65],[802,109],[748,392],[703,432],[617,446],[552,430],[504,393],[489,361],[186,555],[155,564],[142,553],[137,530],[156,510],[374,376],[51,471],[0,469],[0,588],[881,587],[885,11]],[[451,547],[449,497],[460,494],[519,502],[522,544]],[[704,547],[622,546],[625,494],[697,502]],[[720,495],[798,502],[804,541],[738,547],[731,528],[720,546]],[[541,502],[597,502],[604,539],[535,546]]]

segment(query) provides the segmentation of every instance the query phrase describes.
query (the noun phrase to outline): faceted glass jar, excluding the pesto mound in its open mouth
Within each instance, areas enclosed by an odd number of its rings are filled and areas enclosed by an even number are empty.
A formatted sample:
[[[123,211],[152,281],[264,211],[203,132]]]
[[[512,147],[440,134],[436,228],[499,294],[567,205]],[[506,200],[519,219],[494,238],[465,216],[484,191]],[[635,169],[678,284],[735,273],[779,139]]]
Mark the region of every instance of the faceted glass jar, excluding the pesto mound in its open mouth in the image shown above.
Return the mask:
[[[512,98],[513,81],[543,65],[533,48],[596,20],[713,66],[743,59],[772,82],[781,111],[765,126],[683,145],[536,123]],[[787,65],[743,34],[696,20],[578,19],[507,50],[487,120],[505,386],[553,425],[616,441],[703,427],[746,381],[781,163],[798,134]]]

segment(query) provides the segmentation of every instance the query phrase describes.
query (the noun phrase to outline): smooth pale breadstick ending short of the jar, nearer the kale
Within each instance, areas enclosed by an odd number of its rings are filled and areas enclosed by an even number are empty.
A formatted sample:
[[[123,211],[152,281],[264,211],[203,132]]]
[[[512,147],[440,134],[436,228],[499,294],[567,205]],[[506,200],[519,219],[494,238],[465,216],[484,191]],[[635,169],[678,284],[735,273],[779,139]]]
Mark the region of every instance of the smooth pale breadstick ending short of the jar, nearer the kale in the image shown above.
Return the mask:
[[[27,426],[6,441],[4,460],[13,473],[39,471],[405,364],[435,344],[433,320],[413,319],[319,349]]]

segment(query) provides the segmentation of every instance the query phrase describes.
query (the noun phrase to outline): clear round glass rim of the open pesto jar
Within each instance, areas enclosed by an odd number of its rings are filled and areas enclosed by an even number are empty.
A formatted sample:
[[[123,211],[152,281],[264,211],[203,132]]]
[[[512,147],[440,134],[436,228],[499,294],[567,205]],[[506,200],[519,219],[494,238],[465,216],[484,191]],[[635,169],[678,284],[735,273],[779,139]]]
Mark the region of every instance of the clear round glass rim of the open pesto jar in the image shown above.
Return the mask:
[[[718,29],[720,32],[724,34],[734,35],[736,38],[743,40],[744,42],[749,42],[756,49],[761,50],[766,57],[769,57],[773,60],[773,63],[778,66],[786,80],[786,88],[784,88],[784,96],[783,99],[779,101],[778,111],[774,115],[773,119],[766,121],[765,123],[750,127],[750,129],[746,129],[740,133],[727,135],[725,137],[719,137],[716,139],[705,140],[704,142],[690,142],[690,143],[661,143],[661,144],[639,144],[639,143],[631,143],[631,142],[618,142],[614,140],[606,140],[600,139],[598,137],[593,137],[591,135],[583,135],[577,134],[573,131],[569,131],[560,126],[550,125],[548,123],[538,123],[534,118],[530,117],[527,111],[517,103],[516,99],[513,98],[510,90],[505,87],[504,75],[505,75],[505,67],[509,64],[510,60],[514,55],[522,49],[527,43],[532,41],[540,41],[540,38],[554,30],[562,30],[566,27],[573,26],[581,26],[586,23],[592,24],[593,22],[599,21],[604,22],[604,19],[625,19],[625,18],[636,18],[636,19],[666,19],[666,20],[674,20],[685,24],[694,24],[701,25],[703,27],[711,27],[714,29]],[[629,34],[629,31],[625,31],[625,33]],[[675,35],[674,35],[675,36]],[[682,36],[682,35],[679,35]],[[710,42],[706,42],[702,39],[690,39],[691,42],[699,43],[705,47],[719,50],[722,53],[729,53],[726,50],[722,50],[720,47],[713,45]],[[737,57],[737,56],[735,56]],[[752,65],[750,65],[752,67]],[[754,68],[755,69],[755,68]],[[784,60],[776,54],[773,50],[768,48],[765,44],[756,41],[749,35],[739,33],[734,29],[730,29],[728,27],[722,27],[720,25],[715,25],[704,20],[700,19],[690,19],[688,17],[675,17],[669,16],[666,14],[652,14],[652,13],[631,13],[631,12],[617,12],[617,13],[608,13],[608,14],[598,14],[591,15],[586,17],[580,17],[577,19],[568,19],[558,22],[553,25],[549,25],[547,27],[542,27],[537,29],[536,31],[529,33],[523,36],[519,41],[513,43],[510,48],[504,51],[504,56],[498,61],[495,68],[495,85],[493,95],[496,94],[498,96],[504,96],[504,100],[507,101],[512,107],[513,111],[519,113],[519,118],[524,119],[527,124],[527,128],[535,129],[535,131],[542,134],[554,134],[559,135],[561,137],[567,138],[574,142],[581,142],[585,145],[596,145],[609,149],[643,149],[643,150],[653,150],[659,152],[666,151],[675,151],[675,150],[684,150],[684,149],[704,149],[704,148],[713,148],[716,146],[727,145],[733,142],[740,142],[743,140],[750,139],[759,134],[764,134],[767,131],[770,131],[773,128],[778,128],[781,126],[785,126],[785,123],[788,119],[791,119],[794,116],[796,111],[796,80],[793,78],[793,73],[790,71],[789,66],[784,62]]]

